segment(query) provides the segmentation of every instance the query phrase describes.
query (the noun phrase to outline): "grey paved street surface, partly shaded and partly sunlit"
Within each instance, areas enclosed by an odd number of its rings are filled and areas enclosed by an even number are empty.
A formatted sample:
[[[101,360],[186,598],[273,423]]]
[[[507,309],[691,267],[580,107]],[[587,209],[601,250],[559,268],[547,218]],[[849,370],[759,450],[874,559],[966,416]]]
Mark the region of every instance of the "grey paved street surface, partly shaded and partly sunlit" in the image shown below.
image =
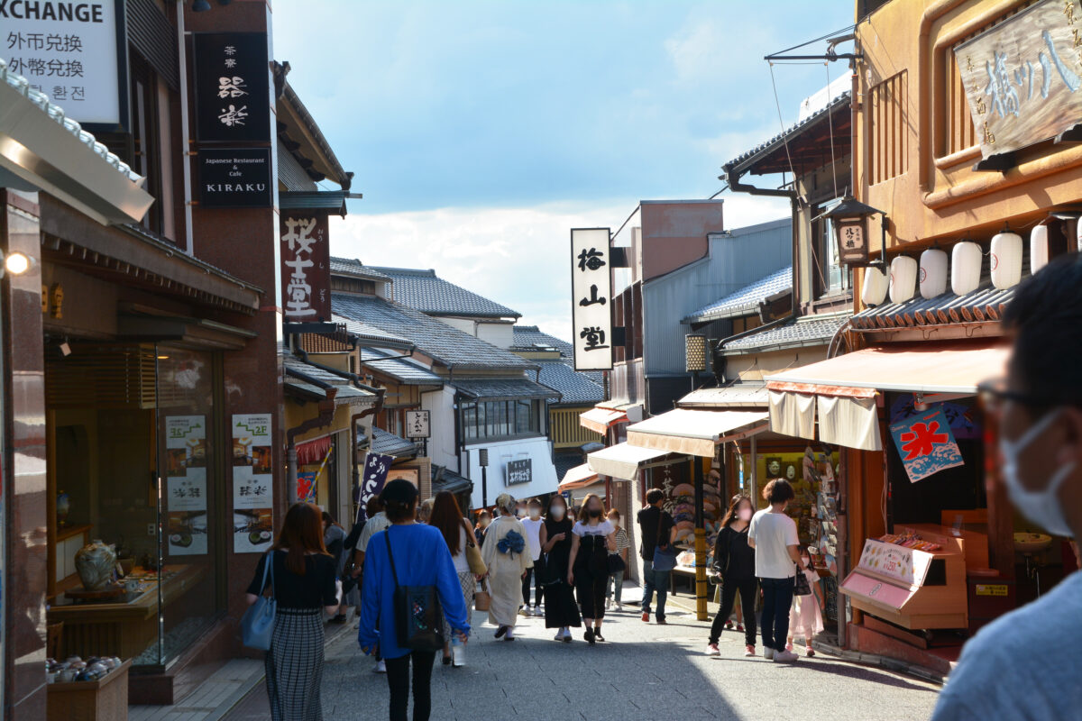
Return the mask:
[[[710,658],[702,653],[709,626],[675,606],[668,626],[613,613],[608,641],[593,647],[581,630],[575,642],[557,643],[541,618],[523,618],[511,642],[492,638],[485,614],[475,622],[465,668],[441,666],[437,655],[434,720],[918,721],[932,715],[938,690],[821,654],[792,666],[744,658],[743,635],[733,631],[722,636],[722,656]],[[266,708],[261,685],[226,718],[264,721]],[[328,647],[324,718],[387,718],[386,678],[372,672],[353,633]]]

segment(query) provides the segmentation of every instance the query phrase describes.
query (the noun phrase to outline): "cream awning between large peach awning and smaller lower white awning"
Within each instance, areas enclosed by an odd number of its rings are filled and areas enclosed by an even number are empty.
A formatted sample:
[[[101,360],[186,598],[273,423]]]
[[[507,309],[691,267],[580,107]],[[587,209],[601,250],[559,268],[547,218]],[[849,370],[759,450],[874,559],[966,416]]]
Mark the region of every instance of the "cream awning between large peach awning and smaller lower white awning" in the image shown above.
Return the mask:
[[[641,448],[711,458],[724,440],[765,430],[766,411],[675,409],[628,426],[628,442]]]

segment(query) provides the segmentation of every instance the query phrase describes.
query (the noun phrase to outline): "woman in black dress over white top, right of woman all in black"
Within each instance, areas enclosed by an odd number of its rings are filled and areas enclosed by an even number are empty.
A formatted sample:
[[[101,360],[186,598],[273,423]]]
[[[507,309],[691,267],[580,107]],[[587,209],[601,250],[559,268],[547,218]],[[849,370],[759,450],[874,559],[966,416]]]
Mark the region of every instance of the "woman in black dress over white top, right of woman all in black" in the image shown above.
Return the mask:
[[[582,500],[579,520],[571,529],[570,570],[567,583],[575,586],[579,609],[590,645],[604,641],[605,585],[608,583],[608,555],[616,550],[616,529],[605,518],[601,497],[590,493]]]

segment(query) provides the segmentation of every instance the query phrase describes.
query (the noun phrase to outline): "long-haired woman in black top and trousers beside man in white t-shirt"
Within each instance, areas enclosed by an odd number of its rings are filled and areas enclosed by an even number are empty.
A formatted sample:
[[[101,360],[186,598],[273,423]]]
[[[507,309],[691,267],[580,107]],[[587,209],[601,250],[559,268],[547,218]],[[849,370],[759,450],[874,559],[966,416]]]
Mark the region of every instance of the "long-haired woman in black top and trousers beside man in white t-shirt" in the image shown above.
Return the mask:
[[[737,593],[743,611],[744,656],[755,655],[755,549],[748,545],[748,529],[755,510],[751,497],[733,496],[729,509],[722,518],[722,530],[714,540],[714,573],[722,584],[722,605],[710,626],[707,655],[721,656],[717,642],[722,627],[733,613]]]

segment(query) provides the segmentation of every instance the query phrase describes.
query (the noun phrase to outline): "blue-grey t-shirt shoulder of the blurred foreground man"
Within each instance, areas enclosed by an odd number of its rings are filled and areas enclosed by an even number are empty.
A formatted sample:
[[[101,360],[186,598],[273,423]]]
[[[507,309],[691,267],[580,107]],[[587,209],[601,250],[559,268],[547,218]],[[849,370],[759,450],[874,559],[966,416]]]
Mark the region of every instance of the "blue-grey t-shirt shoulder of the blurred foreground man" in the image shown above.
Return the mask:
[[[962,650],[932,721],[1082,718],[1082,572],[980,629]]]

